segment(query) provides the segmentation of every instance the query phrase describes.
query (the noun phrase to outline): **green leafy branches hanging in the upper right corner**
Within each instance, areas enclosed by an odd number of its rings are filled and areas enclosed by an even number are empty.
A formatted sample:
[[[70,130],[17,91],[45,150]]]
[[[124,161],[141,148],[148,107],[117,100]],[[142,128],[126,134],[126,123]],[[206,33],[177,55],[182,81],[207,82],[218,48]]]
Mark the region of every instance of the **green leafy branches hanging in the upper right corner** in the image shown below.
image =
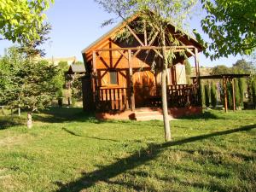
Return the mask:
[[[207,10],[201,26],[212,40],[208,44],[211,59],[253,52],[256,47],[255,0],[201,0],[201,3]]]

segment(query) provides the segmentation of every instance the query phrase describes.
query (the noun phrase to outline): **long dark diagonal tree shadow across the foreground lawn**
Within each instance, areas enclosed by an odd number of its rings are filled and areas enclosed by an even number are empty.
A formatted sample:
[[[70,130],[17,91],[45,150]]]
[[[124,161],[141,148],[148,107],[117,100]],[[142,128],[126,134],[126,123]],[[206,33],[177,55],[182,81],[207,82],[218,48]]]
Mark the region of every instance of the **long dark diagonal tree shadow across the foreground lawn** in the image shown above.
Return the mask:
[[[91,186],[95,185],[98,182],[109,182],[109,179],[112,177],[116,177],[123,172],[127,172],[137,166],[141,166],[150,160],[156,159],[162,151],[166,148],[182,145],[185,143],[193,143],[196,141],[200,141],[203,139],[224,136],[232,133],[236,133],[239,131],[250,131],[256,128],[256,125],[247,125],[242,126],[237,129],[228,130],[228,131],[218,131],[213,132],[207,135],[201,135],[196,137],[189,137],[183,140],[162,143],[162,144],[150,144],[148,148],[143,150],[141,153],[131,154],[131,156],[126,157],[124,159],[118,160],[110,166],[102,166],[99,170],[95,172],[82,173],[83,177],[80,177],[78,180],[62,184],[61,182],[56,182],[60,186],[60,189],[57,191],[80,191],[82,189],[88,189]],[[121,183],[124,184],[124,183]],[[125,184],[124,184],[125,185]],[[199,186],[201,187],[201,186]],[[217,186],[212,186],[213,188]],[[137,186],[133,186],[133,189],[137,189]],[[216,188],[219,189],[219,188]]]

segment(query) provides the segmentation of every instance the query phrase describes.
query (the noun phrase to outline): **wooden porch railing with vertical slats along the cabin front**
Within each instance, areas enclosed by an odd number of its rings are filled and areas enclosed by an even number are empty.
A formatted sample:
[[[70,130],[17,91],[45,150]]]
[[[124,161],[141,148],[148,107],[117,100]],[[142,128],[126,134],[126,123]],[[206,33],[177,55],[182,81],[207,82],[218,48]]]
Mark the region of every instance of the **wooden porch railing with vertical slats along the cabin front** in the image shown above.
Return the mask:
[[[160,107],[160,87],[154,87],[155,96],[148,96],[144,107]],[[200,106],[200,90],[198,84],[180,84],[167,86],[169,107]],[[131,108],[128,88],[105,88],[97,90],[97,109],[100,111],[124,111]],[[139,94],[139,93],[136,93]],[[137,103],[137,106],[139,106]]]

